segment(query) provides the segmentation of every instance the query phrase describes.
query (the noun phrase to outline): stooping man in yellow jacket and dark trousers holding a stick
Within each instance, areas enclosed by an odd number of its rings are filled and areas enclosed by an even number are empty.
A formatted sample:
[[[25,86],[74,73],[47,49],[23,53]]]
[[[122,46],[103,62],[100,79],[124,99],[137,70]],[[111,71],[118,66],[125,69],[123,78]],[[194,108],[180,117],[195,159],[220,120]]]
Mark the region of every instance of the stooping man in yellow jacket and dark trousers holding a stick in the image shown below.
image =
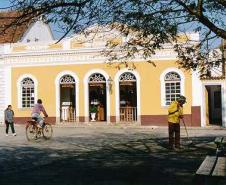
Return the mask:
[[[168,108],[168,125],[169,125],[169,147],[170,149],[180,148],[180,119],[183,119],[183,105],[186,98],[180,96],[173,101]]]

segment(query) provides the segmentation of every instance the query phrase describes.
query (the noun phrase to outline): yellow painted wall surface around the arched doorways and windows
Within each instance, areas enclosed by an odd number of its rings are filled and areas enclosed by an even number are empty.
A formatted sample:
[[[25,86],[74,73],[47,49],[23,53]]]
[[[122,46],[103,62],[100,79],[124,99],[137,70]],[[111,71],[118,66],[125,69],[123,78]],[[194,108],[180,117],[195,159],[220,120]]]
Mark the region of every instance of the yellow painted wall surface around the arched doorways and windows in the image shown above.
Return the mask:
[[[161,106],[160,97],[160,75],[167,68],[176,67],[175,61],[158,61],[156,67],[146,62],[134,63],[136,71],[141,80],[141,115],[166,115],[167,108]],[[18,109],[17,99],[17,81],[20,76],[30,74],[38,81],[38,98],[43,100],[45,108],[51,117],[56,115],[56,86],[55,79],[62,71],[72,71],[79,78],[79,116],[84,116],[84,83],[83,79],[87,72],[93,69],[104,70],[112,79],[118,69],[107,64],[76,64],[76,65],[58,65],[58,66],[32,66],[32,67],[14,67],[12,69],[12,105],[15,116],[28,117],[30,109]],[[184,113],[191,114],[192,103],[192,79],[188,72],[185,75],[185,96],[187,104],[184,106]],[[111,116],[115,116],[115,84],[112,85],[110,94]]]

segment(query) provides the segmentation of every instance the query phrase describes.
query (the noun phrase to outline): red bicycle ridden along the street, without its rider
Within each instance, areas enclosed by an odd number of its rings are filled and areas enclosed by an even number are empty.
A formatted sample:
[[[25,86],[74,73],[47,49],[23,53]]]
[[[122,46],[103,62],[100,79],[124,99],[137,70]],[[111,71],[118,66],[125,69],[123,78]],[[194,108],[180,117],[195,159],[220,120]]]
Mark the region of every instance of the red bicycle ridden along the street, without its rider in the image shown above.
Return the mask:
[[[26,137],[28,141],[37,140],[41,137],[48,140],[53,135],[53,128],[49,123],[43,123],[42,128],[37,126],[36,120],[27,121],[26,125]]]

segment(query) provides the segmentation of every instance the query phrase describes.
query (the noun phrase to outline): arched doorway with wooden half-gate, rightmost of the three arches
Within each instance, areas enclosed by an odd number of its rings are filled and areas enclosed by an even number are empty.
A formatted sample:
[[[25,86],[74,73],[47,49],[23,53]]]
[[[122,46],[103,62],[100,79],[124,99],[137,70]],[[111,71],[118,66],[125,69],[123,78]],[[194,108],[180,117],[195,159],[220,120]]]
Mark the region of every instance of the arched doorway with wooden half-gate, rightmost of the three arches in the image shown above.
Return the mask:
[[[137,79],[130,72],[119,77],[119,109],[120,121],[137,121]]]

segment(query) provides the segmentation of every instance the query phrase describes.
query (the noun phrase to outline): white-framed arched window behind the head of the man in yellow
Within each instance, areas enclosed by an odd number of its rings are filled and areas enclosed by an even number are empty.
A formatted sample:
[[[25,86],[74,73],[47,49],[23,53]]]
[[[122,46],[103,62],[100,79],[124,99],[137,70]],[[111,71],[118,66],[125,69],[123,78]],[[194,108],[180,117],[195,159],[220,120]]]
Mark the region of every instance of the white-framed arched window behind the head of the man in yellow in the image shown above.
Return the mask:
[[[181,95],[181,77],[176,72],[169,72],[164,77],[165,105],[169,105]]]

